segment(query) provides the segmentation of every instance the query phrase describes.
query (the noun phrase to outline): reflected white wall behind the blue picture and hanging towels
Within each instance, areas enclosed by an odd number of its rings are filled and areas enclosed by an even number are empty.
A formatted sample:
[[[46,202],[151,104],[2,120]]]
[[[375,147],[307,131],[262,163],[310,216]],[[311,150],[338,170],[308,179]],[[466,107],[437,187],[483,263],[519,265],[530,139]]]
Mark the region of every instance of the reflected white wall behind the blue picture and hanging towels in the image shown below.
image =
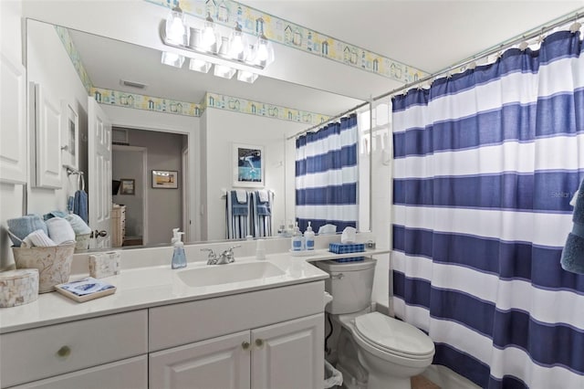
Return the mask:
[[[203,218],[208,226],[208,239],[225,237],[225,200],[221,198],[221,191],[233,188],[234,142],[265,148],[266,189],[271,189],[276,194],[272,214],[273,231],[276,232],[280,220],[293,218],[294,215],[287,216],[285,210],[285,199],[290,201],[286,194],[286,180],[289,178],[286,166],[294,165],[294,154],[291,160],[286,161],[285,139],[291,133],[305,130],[307,125],[213,108],[205,111],[204,118],[207,158],[206,183],[203,183],[203,188],[206,189],[203,190],[206,191],[207,198],[206,204],[203,204]]]

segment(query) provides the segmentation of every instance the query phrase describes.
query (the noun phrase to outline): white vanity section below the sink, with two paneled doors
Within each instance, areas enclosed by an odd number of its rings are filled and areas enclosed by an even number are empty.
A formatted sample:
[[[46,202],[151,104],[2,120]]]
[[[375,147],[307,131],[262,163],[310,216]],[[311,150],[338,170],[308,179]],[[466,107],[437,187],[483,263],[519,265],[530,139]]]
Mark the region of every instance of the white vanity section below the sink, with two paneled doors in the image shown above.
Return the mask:
[[[151,309],[150,388],[322,387],[323,295],[318,281]]]

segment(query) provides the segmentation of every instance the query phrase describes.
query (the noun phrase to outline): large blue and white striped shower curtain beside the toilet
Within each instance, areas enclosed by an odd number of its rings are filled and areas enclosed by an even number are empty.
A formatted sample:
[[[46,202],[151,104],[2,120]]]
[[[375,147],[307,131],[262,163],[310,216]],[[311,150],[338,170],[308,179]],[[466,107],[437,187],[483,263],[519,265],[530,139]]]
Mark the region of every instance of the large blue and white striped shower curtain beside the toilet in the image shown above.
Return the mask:
[[[393,105],[396,316],[483,388],[584,388],[584,276],[560,268],[584,178],[579,33]]]

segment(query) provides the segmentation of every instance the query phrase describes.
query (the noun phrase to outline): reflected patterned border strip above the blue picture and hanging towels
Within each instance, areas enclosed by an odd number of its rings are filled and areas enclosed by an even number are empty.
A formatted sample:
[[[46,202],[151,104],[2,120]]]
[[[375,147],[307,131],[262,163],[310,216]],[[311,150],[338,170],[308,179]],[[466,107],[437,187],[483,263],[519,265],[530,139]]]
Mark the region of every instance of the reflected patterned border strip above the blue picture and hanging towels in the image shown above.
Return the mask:
[[[329,116],[308,110],[296,110],[294,108],[269,104],[261,101],[245,100],[233,96],[225,96],[207,92],[204,99],[205,107],[219,110],[231,110],[256,116],[264,116],[281,121],[296,121],[309,125],[315,125],[328,121]]]

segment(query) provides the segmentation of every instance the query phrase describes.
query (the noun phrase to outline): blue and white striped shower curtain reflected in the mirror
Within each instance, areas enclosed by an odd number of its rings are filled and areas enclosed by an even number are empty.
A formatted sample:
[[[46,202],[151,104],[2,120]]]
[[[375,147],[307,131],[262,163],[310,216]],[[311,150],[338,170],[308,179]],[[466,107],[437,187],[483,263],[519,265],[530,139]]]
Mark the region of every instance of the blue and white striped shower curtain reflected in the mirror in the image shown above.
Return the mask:
[[[296,216],[301,231],[308,222],[318,231],[357,226],[357,116],[341,118],[296,140]]]

